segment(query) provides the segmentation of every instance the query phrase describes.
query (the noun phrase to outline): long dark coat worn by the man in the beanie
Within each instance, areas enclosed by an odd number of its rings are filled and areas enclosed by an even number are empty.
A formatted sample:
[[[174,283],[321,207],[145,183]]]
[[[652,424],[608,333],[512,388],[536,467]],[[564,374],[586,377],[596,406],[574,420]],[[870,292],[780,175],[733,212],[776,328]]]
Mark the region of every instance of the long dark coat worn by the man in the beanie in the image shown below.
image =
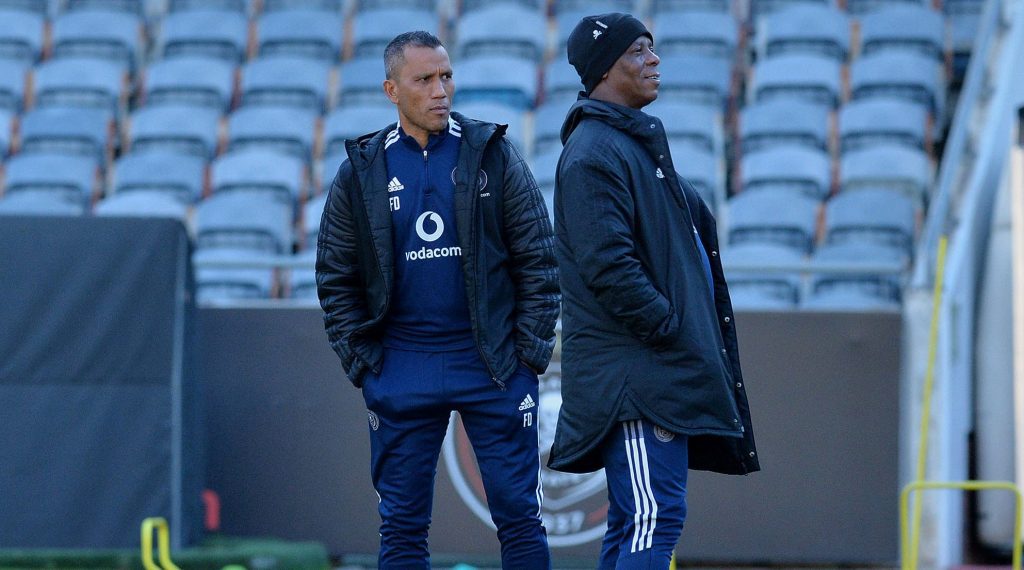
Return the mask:
[[[598,444],[636,415],[689,436],[691,469],[757,471],[715,219],[677,176],[662,122],[581,99],[562,141],[562,408],[550,467],[600,469]],[[711,261],[714,304],[694,231]]]

